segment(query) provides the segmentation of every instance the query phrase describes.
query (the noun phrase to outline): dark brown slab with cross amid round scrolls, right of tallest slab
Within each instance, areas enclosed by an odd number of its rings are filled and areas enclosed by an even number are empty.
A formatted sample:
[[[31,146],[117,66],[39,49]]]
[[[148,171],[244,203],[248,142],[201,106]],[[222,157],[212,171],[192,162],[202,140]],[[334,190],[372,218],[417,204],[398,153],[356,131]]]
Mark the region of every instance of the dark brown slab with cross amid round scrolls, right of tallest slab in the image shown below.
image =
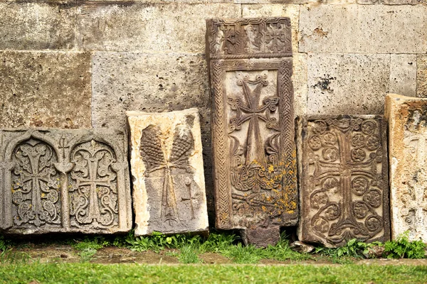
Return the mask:
[[[298,124],[300,241],[389,240],[383,116],[311,116]]]

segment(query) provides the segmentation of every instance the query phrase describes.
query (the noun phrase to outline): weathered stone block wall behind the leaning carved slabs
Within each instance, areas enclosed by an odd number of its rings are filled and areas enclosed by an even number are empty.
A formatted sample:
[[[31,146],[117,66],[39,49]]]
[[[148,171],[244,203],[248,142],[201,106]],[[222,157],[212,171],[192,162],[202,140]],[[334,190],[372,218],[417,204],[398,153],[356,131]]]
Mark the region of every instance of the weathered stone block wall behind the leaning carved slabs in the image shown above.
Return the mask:
[[[0,0],[0,126],[125,128],[127,110],[198,107],[213,210],[205,18],[262,16],[292,21],[296,115],[427,97],[426,0]]]

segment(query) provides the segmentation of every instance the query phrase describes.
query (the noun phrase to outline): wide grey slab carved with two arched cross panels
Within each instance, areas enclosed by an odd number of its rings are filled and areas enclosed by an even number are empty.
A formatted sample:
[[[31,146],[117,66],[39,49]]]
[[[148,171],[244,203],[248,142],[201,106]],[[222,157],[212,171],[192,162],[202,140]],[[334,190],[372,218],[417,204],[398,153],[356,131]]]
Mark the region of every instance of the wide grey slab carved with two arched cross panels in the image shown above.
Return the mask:
[[[119,131],[0,130],[0,225],[14,234],[132,228],[127,139]]]

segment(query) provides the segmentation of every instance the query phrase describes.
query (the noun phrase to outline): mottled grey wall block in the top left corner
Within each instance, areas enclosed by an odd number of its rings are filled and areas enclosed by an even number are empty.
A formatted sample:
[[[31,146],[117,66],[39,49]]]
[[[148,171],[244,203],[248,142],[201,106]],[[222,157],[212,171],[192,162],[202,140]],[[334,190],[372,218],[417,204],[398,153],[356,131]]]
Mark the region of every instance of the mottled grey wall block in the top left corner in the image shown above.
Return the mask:
[[[75,11],[72,4],[0,1],[0,49],[74,48]]]

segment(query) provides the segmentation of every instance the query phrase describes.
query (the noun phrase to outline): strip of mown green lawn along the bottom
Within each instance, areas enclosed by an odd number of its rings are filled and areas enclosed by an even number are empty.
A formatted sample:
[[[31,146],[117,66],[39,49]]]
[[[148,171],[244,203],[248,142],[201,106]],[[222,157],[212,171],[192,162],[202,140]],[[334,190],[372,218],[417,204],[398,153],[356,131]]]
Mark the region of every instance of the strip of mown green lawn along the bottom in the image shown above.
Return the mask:
[[[0,265],[0,283],[425,283],[426,266]]]

